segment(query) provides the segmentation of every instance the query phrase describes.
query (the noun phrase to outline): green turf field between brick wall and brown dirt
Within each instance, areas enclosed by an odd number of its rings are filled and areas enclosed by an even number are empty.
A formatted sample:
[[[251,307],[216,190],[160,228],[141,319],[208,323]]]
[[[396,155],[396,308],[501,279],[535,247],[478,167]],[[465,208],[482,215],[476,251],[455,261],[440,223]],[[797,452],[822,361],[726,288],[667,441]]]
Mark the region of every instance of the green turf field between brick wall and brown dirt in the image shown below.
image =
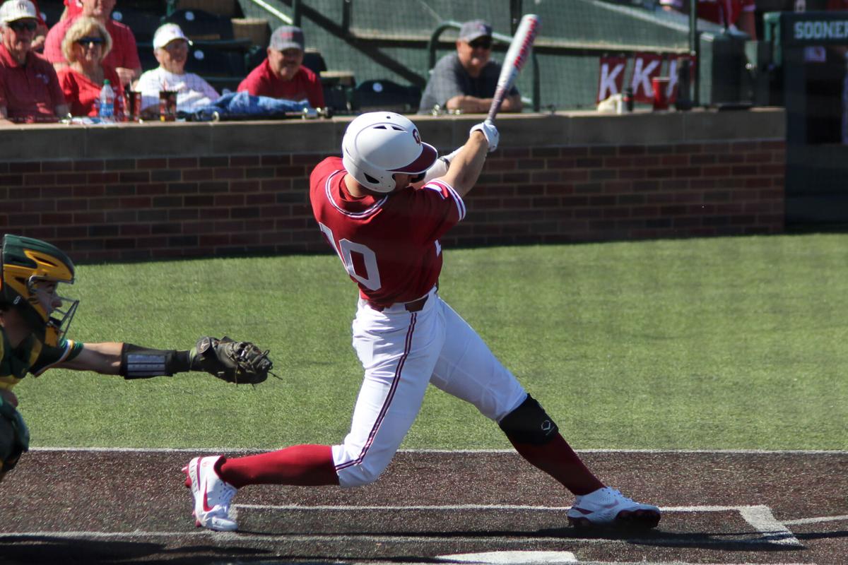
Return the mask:
[[[83,265],[80,341],[271,348],[256,388],[52,370],[15,389],[35,446],[335,443],[360,366],[330,255]],[[70,292],[69,292],[70,294]],[[848,449],[848,235],[446,250],[440,294],[573,446]],[[506,448],[431,387],[406,448]]]

